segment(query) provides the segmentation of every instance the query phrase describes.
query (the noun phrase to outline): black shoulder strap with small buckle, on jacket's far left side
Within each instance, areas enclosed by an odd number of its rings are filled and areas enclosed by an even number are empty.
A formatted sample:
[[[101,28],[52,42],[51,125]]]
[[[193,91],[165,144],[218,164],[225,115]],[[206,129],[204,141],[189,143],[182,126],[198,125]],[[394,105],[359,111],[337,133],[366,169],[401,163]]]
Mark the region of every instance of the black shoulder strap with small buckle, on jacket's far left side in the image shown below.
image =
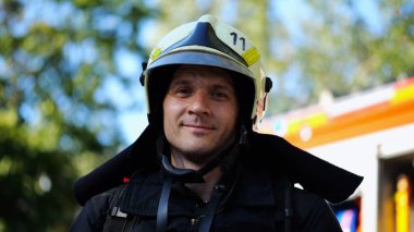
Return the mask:
[[[119,203],[122,198],[126,185],[119,187],[114,192],[114,196],[109,205],[107,211],[107,219],[104,224],[104,232],[126,232],[132,231],[132,227],[136,220],[135,217],[129,217],[127,213],[122,212]]]

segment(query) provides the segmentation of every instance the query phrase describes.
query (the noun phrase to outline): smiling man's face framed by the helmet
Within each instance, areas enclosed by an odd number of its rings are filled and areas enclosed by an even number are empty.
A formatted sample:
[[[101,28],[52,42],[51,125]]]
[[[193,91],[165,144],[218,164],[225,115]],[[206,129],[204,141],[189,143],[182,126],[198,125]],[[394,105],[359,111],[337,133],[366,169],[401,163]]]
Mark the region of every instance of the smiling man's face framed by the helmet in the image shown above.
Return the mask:
[[[205,164],[235,137],[238,101],[223,70],[183,65],[163,100],[163,129],[174,155]]]

